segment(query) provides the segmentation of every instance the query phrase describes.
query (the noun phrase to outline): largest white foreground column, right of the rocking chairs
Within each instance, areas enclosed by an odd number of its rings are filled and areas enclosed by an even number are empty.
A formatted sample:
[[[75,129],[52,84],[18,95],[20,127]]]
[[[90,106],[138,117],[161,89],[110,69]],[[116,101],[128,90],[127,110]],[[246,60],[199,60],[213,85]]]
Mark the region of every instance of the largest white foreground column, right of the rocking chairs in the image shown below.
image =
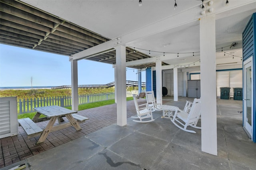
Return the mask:
[[[217,155],[215,15],[200,20],[202,151]]]

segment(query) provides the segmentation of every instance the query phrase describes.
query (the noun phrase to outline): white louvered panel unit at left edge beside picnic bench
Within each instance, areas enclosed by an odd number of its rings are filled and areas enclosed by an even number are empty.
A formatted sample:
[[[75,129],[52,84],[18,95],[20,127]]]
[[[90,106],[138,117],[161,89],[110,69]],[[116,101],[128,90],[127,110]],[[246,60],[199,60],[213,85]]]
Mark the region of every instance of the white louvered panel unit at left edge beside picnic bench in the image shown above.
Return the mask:
[[[0,98],[0,139],[18,135],[17,97]]]

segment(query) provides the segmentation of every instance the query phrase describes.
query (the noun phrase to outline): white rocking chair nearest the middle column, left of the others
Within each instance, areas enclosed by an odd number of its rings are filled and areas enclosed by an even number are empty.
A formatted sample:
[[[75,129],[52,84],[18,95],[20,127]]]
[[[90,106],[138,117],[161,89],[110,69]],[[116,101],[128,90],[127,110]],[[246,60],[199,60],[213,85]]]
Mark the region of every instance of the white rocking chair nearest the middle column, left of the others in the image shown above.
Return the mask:
[[[138,105],[136,94],[133,94],[132,96],[133,96],[133,100],[134,100],[134,104],[137,112],[137,116],[132,116],[132,118],[140,119],[140,120],[132,120],[132,121],[139,122],[139,123],[147,123],[150,121],[154,121],[151,108],[148,107],[148,104]],[[145,107],[139,108],[141,106],[145,106]],[[147,121],[146,120],[142,121],[142,119],[146,119],[146,118],[151,118],[151,119]]]

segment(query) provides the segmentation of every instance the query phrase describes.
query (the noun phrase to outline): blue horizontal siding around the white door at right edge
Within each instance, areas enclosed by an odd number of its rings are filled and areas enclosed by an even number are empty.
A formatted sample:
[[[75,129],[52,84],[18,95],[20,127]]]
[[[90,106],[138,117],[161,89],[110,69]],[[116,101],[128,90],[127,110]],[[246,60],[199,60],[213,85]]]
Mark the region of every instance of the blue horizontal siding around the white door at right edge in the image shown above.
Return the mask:
[[[253,64],[253,106],[252,113],[253,115],[253,141],[256,143],[256,13],[252,14],[248,24],[246,25],[243,32],[243,61],[246,61],[249,57],[252,56]],[[243,82],[244,86],[244,82]],[[243,87],[244,88],[244,87]],[[244,122],[244,120],[243,120]]]

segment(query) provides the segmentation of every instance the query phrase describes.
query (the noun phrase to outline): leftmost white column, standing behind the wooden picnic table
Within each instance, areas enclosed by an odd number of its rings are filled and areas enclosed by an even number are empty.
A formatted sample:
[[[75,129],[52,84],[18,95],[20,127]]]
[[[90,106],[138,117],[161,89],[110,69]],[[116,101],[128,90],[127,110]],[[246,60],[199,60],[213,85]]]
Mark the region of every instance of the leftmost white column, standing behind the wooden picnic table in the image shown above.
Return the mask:
[[[71,61],[72,110],[78,111],[78,69],[77,60]]]

